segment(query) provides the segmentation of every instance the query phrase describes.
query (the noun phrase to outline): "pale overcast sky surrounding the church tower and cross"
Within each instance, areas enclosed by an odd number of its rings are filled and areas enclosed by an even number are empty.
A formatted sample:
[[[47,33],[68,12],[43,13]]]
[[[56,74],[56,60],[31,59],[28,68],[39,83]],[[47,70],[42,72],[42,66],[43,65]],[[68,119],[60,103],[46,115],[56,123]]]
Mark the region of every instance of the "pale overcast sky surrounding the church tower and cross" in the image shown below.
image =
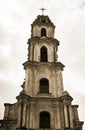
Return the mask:
[[[30,25],[41,7],[56,26],[58,60],[66,66],[64,89],[79,105],[80,121],[85,121],[85,0],[0,0],[0,118],[4,103],[16,102],[21,91]]]

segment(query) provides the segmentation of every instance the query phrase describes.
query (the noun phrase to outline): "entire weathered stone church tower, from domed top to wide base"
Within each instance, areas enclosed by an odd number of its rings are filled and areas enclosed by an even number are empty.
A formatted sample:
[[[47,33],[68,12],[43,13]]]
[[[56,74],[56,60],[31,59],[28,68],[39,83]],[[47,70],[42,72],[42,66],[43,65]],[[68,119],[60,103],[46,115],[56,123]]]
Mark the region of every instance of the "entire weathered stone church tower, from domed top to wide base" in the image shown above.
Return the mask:
[[[78,105],[64,91],[58,62],[59,41],[55,25],[47,15],[39,15],[31,25],[28,59],[23,64],[26,77],[15,104],[5,104],[0,130],[82,130]]]

